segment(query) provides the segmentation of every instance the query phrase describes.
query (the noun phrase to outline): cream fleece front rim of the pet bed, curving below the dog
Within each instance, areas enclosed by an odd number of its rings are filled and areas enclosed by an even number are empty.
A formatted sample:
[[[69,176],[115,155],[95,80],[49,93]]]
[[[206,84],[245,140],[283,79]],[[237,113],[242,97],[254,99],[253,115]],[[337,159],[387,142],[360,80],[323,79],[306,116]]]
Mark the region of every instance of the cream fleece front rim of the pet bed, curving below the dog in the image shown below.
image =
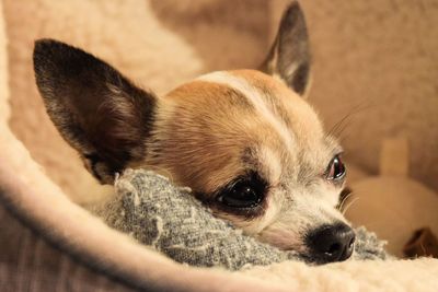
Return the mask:
[[[10,101],[20,96],[10,95],[7,58],[4,22],[0,16],[1,202],[41,236],[64,253],[79,258],[82,265],[128,287],[147,291],[438,290],[438,260],[431,258],[350,260],[319,267],[285,261],[244,272],[230,272],[180,265],[136,243],[73,203],[11,131]]]

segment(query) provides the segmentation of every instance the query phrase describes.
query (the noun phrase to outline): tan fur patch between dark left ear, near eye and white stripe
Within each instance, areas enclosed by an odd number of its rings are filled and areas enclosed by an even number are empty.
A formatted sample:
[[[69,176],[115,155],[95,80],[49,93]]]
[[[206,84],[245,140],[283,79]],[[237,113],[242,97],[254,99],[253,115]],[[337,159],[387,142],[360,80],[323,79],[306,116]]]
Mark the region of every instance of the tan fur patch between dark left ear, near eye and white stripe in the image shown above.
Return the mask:
[[[160,101],[146,161],[196,191],[215,190],[244,171],[242,151],[260,139],[252,133],[263,121],[247,105],[242,94],[220,84],[194,81],[172,91]],[[263,132],[269,136],[268,129]]]

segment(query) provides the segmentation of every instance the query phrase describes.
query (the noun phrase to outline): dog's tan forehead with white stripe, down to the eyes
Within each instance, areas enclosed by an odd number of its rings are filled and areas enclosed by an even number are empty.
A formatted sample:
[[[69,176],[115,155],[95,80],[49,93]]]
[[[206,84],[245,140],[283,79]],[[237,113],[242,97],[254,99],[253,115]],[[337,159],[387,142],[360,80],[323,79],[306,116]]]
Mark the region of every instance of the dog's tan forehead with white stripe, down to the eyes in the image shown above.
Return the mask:
[[[177,153],[172,164],[192,164],[191,172],[200,173],[191,176],[198,178],[204,171],[215,176],[206,178],[211,182],[199,179],[208,189],[245,167],[247,149],[256,150],[257,167],[278,177],[286,164],[295,165],[302,149],[321,148],[322,127],[312,107],[281,82],[254,70],[201,75],[162,100],[168,106],[158,112],[157,128],[168,137],[160,138],[169,144],[164,148]],[[164,156],[169,162],[172,154]],[[182,163],[184,157],[191,162]],[[219,171],[212,175],[214,170]]]

